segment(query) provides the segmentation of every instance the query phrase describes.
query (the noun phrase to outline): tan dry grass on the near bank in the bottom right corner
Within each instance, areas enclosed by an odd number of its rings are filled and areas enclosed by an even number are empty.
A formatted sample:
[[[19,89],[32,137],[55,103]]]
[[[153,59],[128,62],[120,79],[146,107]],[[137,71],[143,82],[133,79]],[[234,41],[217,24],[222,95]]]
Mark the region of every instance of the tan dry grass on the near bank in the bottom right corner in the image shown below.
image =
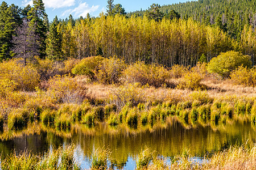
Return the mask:
[[[188,152],[176,155],[171,165],[167,165],[164,159],[154,158],[147,169],[256,169],[256,145],[251,148],[230,147],[212,158],[204,158],[202,163],[191,159]]]

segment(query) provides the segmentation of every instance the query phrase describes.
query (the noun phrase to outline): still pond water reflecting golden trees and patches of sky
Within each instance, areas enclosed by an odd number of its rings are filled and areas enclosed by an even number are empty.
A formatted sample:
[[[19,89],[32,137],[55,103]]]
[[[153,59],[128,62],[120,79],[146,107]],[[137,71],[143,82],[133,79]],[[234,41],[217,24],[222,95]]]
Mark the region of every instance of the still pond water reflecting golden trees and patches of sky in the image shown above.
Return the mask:
[[[41,125],[39,125],[41,126]],[[24,133],[13,139],[1,141],[2,159],[10,153],[28,150],[43,154],[53,146],[75,144],[75,157],[82,168],[90,168],[90,155],[98,147],[108,147],[115,167],[135,168],[137,154],[147,146],[155,154],[171,158],[184,149],[195,158],[222,150],[230,145],[251,145],[256,142],[255,126],[247,121],[229,122],[226,125],[184,126],[176,118],[153,128],[129,129],[125,126],[110,128],[96,124],[94,128],[75,126],[70,131],[56,131],[48,127],[36,133]]]

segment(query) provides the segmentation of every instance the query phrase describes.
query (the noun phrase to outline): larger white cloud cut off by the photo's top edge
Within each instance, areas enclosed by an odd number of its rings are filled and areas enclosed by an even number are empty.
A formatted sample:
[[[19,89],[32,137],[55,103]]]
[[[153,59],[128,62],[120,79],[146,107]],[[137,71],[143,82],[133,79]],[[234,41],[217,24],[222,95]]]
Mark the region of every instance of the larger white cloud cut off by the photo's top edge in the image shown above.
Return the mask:
[[[75,0],[43,0],[47,8],[63,8],[75,5]]]

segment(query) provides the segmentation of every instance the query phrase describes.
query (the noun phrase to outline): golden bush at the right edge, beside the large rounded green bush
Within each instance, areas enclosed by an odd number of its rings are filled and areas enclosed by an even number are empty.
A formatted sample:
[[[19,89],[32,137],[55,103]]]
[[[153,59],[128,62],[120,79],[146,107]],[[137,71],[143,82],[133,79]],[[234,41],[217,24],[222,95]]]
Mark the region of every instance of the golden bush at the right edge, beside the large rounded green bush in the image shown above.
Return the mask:
[[[247,69],[246,67],[238,67],[230,75],[234,84],[242,84],[244,86],[256,86],[256,69]]]

